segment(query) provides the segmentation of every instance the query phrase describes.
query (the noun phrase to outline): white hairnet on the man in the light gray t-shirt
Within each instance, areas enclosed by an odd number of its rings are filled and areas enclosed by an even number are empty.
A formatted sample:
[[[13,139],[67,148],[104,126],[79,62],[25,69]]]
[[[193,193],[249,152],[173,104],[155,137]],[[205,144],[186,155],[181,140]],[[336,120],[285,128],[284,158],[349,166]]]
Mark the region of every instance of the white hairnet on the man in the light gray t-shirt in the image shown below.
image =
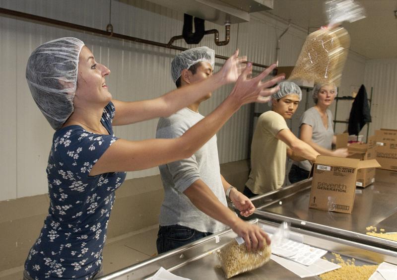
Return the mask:
[[[181,76],[182,70],[189,69],[198,62],[207,62],[212,69],[215,65],[215,52],[208,47],[186,50],[177,55],[171,62],[171,77],[174,82]]]

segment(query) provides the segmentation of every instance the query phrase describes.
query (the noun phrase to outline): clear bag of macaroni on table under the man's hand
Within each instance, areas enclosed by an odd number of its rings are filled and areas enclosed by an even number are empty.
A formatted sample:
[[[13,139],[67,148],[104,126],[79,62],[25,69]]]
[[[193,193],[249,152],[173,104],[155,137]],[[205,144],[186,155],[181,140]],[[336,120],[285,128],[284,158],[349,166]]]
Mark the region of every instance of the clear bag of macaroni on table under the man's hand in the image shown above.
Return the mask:
[[[233,239],[217,251],[217,256],[227,279],[262,267],[270,260],[271,248],[265,243],[262,250],[247,250],[241,237]],[[244,240],[243,240],[244,241]]]

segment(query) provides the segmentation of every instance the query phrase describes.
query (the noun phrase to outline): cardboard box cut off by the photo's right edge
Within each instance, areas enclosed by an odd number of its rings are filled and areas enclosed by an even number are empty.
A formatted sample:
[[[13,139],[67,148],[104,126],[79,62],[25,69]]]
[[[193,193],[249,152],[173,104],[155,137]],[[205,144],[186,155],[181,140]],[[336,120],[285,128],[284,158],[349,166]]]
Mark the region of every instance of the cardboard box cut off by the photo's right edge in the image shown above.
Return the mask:
[[[375,131],[376,160],[381,169],[397,170],[397,130],[381,129]]]

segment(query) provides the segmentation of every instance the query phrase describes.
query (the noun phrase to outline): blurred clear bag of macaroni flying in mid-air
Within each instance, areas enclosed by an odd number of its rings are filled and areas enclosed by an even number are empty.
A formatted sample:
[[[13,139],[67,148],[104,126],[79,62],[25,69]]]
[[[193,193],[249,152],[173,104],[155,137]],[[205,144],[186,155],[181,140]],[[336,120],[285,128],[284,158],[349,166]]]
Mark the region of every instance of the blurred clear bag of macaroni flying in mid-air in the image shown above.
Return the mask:
[[[364,9],[353,0],[331,0],[326,6],[329,24],[307,36],[290,80],[340,84],[350,36],[339,24],[364,18]]]

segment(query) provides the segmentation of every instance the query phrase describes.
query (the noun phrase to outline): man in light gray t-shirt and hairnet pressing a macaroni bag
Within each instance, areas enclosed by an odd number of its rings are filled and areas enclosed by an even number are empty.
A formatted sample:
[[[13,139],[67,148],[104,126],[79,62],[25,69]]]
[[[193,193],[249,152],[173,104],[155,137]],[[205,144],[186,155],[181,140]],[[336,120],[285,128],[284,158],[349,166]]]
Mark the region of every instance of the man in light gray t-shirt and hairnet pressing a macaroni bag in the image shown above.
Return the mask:
[[[212,75],[213,66],[213,50],[207,47],[187,50],[172,61],[172,78],[177,87],[188,86]],[[183,135],[204,118],[199,114],[199,105],[210,96],[208,93],[204,99],[174,115],[160,118],[156,138]],[[226,197],[241,215],[249,216],[255,210],[252,202],[220,174],[216,136],[190,158],[161,165],[159,169],[164,186],[157,237],[159,254],[221,231],[226,226],[253,243],[265,242],[264,231],[244,222],[227,207]]]

